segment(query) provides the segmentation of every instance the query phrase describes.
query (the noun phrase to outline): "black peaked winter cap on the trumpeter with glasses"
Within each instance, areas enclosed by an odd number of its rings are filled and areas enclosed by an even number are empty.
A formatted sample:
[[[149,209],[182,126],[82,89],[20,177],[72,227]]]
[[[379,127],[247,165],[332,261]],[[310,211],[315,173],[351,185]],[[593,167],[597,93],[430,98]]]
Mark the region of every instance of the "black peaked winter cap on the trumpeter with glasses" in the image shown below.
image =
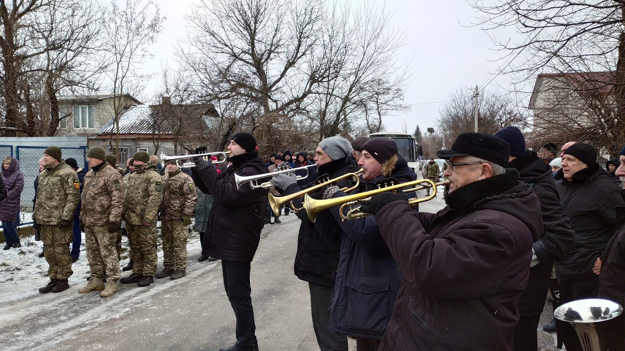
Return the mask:
[[[441,159],[467,155],[506,167],[510,156],[510,144],[491,134],[468,132],[457,136],[450,150],[436,151],[436,156]]]

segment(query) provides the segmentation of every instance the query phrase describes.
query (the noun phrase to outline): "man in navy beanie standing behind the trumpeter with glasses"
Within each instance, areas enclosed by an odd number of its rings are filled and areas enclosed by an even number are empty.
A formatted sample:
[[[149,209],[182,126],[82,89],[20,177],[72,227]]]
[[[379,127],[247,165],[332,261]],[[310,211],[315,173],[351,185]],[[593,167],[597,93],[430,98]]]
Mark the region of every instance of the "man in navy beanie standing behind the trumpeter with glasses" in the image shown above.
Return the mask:
[[[551,168],[536,152],[525,151],[525,137],[517,127],[508,126],[495,136],[510,144],[509,164],[517,169],[521,180],[531,185],[541,202],[544,230],[532,245],[532,262],[527,288],[519,299],[519,325],[514,332],[514,351],[536,351],[536,329],[549,289],[554,260],[566,259],[573,248],[573,232],[569,217],[562,212]]]

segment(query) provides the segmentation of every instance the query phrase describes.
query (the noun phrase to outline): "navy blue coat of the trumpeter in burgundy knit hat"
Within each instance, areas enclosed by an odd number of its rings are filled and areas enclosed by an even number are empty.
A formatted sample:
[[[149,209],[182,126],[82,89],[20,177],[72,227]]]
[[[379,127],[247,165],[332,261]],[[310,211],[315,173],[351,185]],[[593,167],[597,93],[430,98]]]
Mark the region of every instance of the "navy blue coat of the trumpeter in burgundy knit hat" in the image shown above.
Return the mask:
[[[401,183],[417,179],[401,156],[390,176]],[[375,189],[375,181],[381,178],[366,183],[361,181],[359,189],[352,194]],[[334,197],[344,195],[344,192],[337,192]],[[414,197],[414,193],[409,196]],[[333,207],[319,213],[315,220],[319,234],[329,232],[326,226],[337,223],[341,227],[341,257],[327,328],[352,337],[380,340],[391,319],[393,302],[401,284],[401,271],[373,216],[342,222],[339,207]]]

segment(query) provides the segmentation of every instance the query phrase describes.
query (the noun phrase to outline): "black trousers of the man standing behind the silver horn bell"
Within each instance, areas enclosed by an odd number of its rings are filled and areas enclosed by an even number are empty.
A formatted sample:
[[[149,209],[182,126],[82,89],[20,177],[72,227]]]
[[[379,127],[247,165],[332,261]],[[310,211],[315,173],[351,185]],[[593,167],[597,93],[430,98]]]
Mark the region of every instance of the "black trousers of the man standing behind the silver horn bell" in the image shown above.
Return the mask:
[[[592,272],[571,280],[560,279],[560,304],[579,299],[591,299],[597,297],[599,292],[599,275]],[[573,326],[567,322],[556,319],[557,337],[562,338],[567,351],[582,351],[579,337]]]

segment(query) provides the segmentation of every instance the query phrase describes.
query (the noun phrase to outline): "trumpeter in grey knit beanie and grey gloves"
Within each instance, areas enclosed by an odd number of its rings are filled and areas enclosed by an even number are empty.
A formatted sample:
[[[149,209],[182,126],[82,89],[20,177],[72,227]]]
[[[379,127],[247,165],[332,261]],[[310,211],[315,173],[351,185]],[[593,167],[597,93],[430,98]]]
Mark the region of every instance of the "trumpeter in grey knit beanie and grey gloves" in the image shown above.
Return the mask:
[[[339,136],[328,137],[319,142],[317,156],[314,161],[321,179],[333,179],[347,173],[357,171],[350,161],[351,145]],[[300,152],[297,157],[303,157],[301,162],[306,161],[306,154]],[[299,161],[299,160],[298,160]],[[276,188],[284,189],[282,195],[291,195],[302,189],[316,185],[316,181],[309,182],[302,187],[289,175],[278,174],[271,179]],[[351,187],[354,179],[344,179],[338,182],[339,187]],[[302,206],[303,197],[294,201],[296,207]],[[330,299],[334,290],[334,272],[339,264],[340,232],[341,229],[334,219],[325,227],[325,232],[319,234],[315,224],[308,219],[305,209],[296,212],[301,219],[299,234],[297,235],[297,252],[295,254],[294,272],[297,278],[308,282],[311,295],[312,327],[317,337],[317,344],[321,351],[347,351],[347,336],[336,334],[327,329],[330,309]]]

